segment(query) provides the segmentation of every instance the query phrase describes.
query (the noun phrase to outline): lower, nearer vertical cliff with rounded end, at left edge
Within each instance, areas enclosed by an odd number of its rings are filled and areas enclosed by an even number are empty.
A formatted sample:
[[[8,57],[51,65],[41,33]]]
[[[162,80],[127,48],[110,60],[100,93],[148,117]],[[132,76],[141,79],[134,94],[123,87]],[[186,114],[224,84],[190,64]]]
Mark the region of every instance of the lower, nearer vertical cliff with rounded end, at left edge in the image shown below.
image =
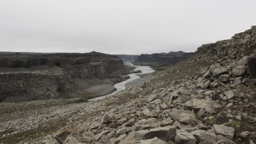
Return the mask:
[[[27,101],[68,97],[74,82],[65,71],[1,73],[0,100]]]

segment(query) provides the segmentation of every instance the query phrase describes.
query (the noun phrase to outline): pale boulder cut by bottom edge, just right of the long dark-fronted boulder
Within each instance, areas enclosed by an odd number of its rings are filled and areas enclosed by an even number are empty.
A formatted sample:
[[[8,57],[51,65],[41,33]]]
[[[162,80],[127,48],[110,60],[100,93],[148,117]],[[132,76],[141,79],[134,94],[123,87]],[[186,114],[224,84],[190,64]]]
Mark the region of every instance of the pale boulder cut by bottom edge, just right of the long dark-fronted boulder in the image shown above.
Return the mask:
[[[176,134],[175,141],[179,144],[195,144],[196,138],[187,131],[182,131]]]

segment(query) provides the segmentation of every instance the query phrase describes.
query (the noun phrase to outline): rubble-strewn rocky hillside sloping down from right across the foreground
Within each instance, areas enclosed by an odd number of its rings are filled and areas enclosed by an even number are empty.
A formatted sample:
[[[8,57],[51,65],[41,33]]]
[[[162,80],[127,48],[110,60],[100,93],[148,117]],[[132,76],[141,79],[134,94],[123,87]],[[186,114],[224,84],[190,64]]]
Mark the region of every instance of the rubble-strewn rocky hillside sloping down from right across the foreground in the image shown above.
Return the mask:
[[[96,101],[1,103],[0,143],[256,142],[256,26]]]

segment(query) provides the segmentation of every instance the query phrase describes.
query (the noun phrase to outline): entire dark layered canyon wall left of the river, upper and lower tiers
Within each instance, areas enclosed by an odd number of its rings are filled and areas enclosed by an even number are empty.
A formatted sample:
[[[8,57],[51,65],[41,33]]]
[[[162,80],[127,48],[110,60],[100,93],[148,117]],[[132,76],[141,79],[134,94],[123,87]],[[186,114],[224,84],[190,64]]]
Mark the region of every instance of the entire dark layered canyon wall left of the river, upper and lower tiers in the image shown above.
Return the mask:
[[[104,53],[0,55],[0,101],[73,97],[74,79],[111,79],[126,74],[123,61]]]

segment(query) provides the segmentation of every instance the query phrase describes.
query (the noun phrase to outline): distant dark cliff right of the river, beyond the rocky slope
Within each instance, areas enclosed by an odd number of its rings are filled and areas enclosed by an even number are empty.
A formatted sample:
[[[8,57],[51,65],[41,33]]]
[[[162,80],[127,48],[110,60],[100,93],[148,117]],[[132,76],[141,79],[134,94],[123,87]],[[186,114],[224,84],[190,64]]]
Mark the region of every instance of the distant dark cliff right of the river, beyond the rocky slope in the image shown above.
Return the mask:
[[[153,53],[152,55],[148,54],[142,54],[137,58],[136,63],[150,63],[150,62],[157,62],[161,64],[168,64],[168,65],[174,65],[179,61],[182,61],[183,59],[187,59],[191,56],[193,56],[194,52],[169,52],[169,53]]]

